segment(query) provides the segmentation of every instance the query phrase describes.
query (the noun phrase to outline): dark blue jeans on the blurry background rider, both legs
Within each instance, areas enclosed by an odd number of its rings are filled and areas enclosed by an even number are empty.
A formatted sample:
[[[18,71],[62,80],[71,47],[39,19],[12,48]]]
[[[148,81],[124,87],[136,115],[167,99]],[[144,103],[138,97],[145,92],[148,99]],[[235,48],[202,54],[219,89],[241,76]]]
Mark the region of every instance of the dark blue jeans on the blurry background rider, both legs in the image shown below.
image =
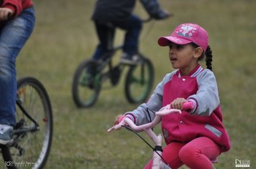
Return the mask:
[[[95,21],[96,33],[99,38],[99,45],[93,54],[93,59],[100,59],[106,52],[111,49],[114,42],[115,27],[124,29],[126,31],[124,37],[123,51],[130,56],[138,52],[140,31],[142,29],[142,20],[136,16],[131,15],[127,19],[120,21],[113,21],[111,23],[114,27],[109,27],[107,24],[102,24]]]

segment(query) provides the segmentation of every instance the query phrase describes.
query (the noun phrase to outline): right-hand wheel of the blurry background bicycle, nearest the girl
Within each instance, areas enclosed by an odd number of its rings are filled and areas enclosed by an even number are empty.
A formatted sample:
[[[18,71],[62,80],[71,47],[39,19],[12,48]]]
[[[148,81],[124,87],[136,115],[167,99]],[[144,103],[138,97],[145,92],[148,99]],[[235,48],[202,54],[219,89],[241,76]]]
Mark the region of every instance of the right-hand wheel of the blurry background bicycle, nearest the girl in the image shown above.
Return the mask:
[[[129,68],[125,80],[125,96],[130,103],[147,100],[154,82],[154,67],[150,59],[142,57],[142,63]]]

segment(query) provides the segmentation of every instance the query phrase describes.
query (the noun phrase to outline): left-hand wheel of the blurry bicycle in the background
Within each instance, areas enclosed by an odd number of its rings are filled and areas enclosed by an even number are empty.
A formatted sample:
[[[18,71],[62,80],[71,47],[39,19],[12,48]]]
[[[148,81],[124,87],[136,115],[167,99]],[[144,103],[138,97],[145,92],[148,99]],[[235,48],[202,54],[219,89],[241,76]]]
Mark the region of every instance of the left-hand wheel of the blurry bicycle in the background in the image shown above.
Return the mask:
[[[101,74],[97,72],[99,63],[84,60],[79,64],[73,77],[72,95],[78,107],[91,107],[101,91]]]

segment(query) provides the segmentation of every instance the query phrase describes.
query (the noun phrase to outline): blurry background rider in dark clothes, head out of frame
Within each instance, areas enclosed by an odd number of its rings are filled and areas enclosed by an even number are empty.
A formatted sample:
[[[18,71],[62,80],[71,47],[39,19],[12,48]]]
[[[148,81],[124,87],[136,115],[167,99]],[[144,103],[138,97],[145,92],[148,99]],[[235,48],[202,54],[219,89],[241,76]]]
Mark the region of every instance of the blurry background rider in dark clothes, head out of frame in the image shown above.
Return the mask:
[[[93,10],[92,19],[96,27],[99,38],[99,45],[93,54],[93,59],[101,59],[111,48],[114,42],[115,28],[118,27],[126,31],[124,37],[124,47],[122,64],[137,64],[136,57],[140,32],[142,30],[142,20],[132,14],[136,0],[98,0]],[[147,6],[148,2],[142,1]],[[151,15],[155,19],[164,19],[168,14],[159,8],[156,0],[150,0],[149,8],[153,9]],[[155,8],[152,4],[155,3]],[[146,8],[147,9],[147,8]],[[149,12],[149,11],[148,11]],[[111,26],[109,26],[111,25]],[[111,37],[109,37],[111,36]]]

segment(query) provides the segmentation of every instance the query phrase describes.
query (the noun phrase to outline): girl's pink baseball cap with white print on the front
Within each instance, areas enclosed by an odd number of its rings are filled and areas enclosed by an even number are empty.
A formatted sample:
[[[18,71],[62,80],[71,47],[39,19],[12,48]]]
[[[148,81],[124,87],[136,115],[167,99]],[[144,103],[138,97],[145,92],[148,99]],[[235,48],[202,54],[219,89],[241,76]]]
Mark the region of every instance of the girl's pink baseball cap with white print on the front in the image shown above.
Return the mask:
[[[206,52],[209,45],[208,39],[208,34],[204,28],[198,24],[186,23],[177,26],[173,34],[170,36],[160,37],[158,39],[158,44],[161,47],[165,47],[168,46],[170,42],[175,44],[189,44],[193,42],[194,44],[197,44],[199,47],[203,48],[204,52]]]

